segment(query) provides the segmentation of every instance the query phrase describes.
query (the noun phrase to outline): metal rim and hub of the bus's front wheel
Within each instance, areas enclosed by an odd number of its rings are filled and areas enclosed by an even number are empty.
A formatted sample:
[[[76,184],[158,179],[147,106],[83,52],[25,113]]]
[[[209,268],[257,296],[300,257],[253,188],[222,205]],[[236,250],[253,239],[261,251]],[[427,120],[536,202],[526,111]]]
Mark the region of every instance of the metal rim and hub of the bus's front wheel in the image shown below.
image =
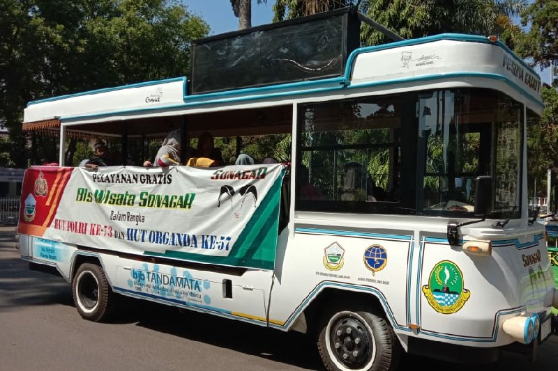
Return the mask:
[[[355,318],[341,319],[331,329],[331,345],[335,356],[349,368],[368,361],[370,341],[362,322]]]

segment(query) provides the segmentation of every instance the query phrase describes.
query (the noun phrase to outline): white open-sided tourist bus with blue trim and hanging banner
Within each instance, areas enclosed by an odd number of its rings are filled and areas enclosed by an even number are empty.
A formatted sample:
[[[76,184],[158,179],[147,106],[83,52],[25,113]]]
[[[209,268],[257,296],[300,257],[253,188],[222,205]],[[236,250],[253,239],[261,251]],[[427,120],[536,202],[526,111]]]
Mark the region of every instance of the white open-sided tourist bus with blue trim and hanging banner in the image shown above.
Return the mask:
[[[60,166],[25,173],[22,258],[65,278],[84,319],[146,299],[312,334],[328,370],[534,356],[558,305],[528,212],[540,78],[493,37],[359,47],[351,19],[212,36],[190,77],[29,102],[24,129],[59,135]],[[75,137],[135,155],[171,129],[181,154],[205,131],[292,145],[278,164],[64,163]]]

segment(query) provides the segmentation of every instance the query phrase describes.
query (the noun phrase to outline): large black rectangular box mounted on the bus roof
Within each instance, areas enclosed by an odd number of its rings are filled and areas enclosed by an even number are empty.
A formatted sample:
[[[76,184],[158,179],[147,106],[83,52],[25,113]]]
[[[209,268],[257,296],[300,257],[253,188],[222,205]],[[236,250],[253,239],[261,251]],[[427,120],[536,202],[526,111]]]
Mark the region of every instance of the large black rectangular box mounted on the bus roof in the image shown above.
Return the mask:
[[[191,94],[338,77],[359,47],[354,8],[195,40]]]

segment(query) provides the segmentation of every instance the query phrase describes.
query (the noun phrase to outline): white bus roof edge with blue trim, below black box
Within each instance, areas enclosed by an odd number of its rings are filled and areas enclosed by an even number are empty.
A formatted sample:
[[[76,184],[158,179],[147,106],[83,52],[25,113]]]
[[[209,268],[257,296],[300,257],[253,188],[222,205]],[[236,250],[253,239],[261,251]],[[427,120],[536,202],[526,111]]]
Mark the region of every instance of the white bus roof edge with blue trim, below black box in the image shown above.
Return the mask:
[[[24,129],[176,116],[216,106],[290,104],[317,94],[361,90],[386,94],[434,88],[493,88],[525,102],[538,113],[543,108],[540,77],[502,42],[456,33],[354,49],[339,77],[197,95],[187,93],[187,84],[186,77],[177,77],[29,102],[24,110]],[[110,132],[110,127],[104,130]],[[121,133],[121,129],[115,130],[115,134]]]

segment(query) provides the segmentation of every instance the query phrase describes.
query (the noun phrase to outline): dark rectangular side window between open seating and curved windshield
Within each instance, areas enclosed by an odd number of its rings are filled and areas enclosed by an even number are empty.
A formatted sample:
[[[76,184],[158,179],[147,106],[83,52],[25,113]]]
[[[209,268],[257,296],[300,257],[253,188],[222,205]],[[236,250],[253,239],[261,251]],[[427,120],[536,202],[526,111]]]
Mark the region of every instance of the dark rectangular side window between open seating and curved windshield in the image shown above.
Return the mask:
[[[359,97],[299,106],[297,210],[408,213],[398,189],[401,133],[409,131],[402,102]]]

